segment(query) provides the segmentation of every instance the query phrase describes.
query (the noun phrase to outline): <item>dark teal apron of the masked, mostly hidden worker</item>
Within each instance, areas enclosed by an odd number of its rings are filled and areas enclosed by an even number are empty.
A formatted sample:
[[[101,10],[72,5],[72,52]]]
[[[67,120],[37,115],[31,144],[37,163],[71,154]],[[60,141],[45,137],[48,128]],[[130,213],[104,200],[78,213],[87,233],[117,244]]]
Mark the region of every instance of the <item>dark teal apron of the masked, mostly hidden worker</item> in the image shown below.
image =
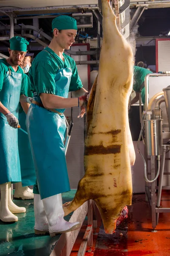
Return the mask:
[[[26,113],[19,112],[19,124],[21,128],[27,132],[26,129]],[[23,186],[31,186],[36,182],[34,163],[32,159],[31,146],[28,135],[18,129],[18,150],[20,156],[21,179]]]

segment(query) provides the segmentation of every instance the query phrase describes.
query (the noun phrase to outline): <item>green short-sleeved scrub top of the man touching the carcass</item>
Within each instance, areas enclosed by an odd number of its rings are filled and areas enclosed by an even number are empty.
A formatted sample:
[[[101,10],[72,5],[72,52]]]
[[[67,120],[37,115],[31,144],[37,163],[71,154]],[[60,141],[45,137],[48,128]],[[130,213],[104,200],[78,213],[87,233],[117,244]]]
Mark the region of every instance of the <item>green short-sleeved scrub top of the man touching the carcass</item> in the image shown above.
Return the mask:
[[[48,51],[48,52],[46,52]],[[52,55],[52,57],[51,57]],[[55,76],[59,69],[71,67],[72,76],[69,91],[76,91],[82,88],[82,82],[79,78],[77,66],[73,58],[63,53],[65,61],[49,47],[40,52],[32,62],[29,78],[31,81],[31,90],[40,93],[50,93],[55,95]]]

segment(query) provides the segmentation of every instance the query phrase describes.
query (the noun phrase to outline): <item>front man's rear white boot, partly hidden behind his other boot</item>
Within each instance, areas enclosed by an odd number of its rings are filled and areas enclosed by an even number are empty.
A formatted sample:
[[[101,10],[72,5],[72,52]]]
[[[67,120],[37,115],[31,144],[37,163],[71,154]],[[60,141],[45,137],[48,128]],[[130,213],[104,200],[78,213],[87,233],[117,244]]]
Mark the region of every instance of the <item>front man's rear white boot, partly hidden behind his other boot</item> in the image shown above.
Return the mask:
[[[34,194],[34,215],[35,226],[34,231],[36,235],[45,235],[49,233],[48,220],[45,214],[44,205],[40,198],[40,195]]]

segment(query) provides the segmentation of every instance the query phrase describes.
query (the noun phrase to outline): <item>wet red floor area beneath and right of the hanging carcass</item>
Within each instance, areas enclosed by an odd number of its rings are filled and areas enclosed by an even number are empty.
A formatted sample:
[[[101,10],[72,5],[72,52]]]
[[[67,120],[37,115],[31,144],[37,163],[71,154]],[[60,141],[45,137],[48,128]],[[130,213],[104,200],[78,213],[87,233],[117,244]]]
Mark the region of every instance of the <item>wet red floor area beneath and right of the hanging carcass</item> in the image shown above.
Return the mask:
[[[162,193],[161,206],[170,207],[170,191]],[[133,195],[133,204],[128,208],[127,220],[113,235],[105,234],[103,226],[100,227],[91,252],[85,256],[170,256],[170,213],[159,214],[157,232],[152,232],[151,209],[145,195]],[[71,256],[77,256],[83,230],[81,232]]]

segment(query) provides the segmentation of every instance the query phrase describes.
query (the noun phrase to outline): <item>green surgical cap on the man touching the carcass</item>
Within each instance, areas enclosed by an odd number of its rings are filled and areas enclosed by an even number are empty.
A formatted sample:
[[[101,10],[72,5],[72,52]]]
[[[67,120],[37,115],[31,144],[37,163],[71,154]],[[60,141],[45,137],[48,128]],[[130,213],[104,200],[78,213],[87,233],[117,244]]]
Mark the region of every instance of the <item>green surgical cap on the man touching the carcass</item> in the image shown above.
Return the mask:
[[[77,21],[70,16],[61,15],[56,17],[52,21],[52,29],[53,30],[54,29],[58,29],[58,30],[76,29],[77,30]]]

